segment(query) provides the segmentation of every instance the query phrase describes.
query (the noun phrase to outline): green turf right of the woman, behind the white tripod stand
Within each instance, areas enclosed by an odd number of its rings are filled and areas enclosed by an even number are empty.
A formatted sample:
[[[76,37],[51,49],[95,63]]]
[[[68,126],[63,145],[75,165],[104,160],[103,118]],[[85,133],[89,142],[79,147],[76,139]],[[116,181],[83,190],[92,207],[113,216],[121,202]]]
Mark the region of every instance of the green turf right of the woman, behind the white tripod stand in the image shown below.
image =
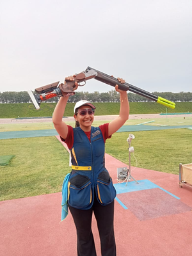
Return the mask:
[[[137,159],[140,168],[178,175],[179,163],[192,163],[192,131],[189,129],[138,131],[132,134],[135,136],[131,144],[134,147],[134,154],[131,154],[132,166],[136,166]],[[129,132],[116,132],[111,140],[106,141],[106,152],[127,165],[128,136]]]

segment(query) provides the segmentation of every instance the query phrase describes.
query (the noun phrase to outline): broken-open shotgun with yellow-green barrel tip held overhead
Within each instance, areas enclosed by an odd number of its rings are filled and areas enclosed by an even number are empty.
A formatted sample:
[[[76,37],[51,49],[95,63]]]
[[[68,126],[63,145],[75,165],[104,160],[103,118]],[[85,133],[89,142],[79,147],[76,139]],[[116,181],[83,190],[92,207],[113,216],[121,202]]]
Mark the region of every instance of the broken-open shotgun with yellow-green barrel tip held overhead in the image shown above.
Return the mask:
[[[175,103],[170,100],[166,100],[166,99],[163,99],[162,97],[158,97],[141,88],[133,86],[132,84],[129,84],[129,83],[122,84],[118,82],[118,80],[115,77],[104,74],[99,70],[91,67],[88,67],[86,68],[85,71],[79,74],[76,74],[74,81],[65,80],[66,81],[65,84],[63,83],[60,84],[60,82],[47,84],[45,86],[36,88],[35,89],[36,94],[34,94],[31,90],[28,90],[28,94],[35,108],[40,109],[40,103],[42,101],[51,99],[52,97],[63,97],[66,95],[66,93],[67,95],[74,95],[75,92],[73,92],[73,88],[75,87],[75,82],[77,82],[79,86],[84,86],[84,84],[86,84],[86,80],[89,80],[92,78],[114,87],[116,84],[118,84],[118,88],[120,90],[124,90],[124,91],[129,90],[130,92],[146,97],[147,99],[156,101],[157,103],[162,104],[168,108],[172,108],[172,109],[175,108]]]

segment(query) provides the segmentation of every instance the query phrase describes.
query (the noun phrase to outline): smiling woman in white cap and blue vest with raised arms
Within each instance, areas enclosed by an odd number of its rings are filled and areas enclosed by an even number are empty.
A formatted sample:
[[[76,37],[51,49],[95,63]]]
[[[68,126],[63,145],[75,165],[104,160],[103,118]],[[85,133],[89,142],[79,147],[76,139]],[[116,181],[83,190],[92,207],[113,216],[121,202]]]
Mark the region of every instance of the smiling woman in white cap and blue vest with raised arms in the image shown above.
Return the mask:
[[[75,81],[76,76],[66,77]],[[118,78],[120,83],[124,79]],[[66,81],[65,81],[66,83]],[[75,83],[74,90],[78,84]],[[92,234],[92,214],[94,212],[99,229],[102,256],[115,256],[114,199],[116,191],[105,168],[105,142],[118,131],[129,118],[127,92],[120,93],[120,113],[108,124],[93,127],[95,106],[80,100],[74,107],[76,127],[65,124],[62,118],[68,96],[61,97],[52,116],[52,122],[61,140],[67,143],[71,152],[72,172],[67,180],[67,204],[77,230],[77,255],[95,256],[95,243]]]

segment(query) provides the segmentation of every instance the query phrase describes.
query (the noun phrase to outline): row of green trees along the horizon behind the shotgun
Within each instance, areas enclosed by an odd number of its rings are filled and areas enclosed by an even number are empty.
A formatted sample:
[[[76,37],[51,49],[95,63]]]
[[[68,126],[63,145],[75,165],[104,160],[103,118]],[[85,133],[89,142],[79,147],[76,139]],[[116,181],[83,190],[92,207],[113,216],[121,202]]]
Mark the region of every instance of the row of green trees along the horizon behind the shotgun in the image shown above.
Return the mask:
[[[129,102],[150,102],[151,100],[142,97],[136,93],[128,92]],[[153,92],[154,95],[163,97],[173,102],[189,102],[192,101],[192,92]],[[79,100],[88,100],[90,102],[120,102],[119,93],[115,90],[109,92],[76,92],[75,95],[69,97],[68,102],[77,102]],[[58,102],[59,98],[54,97],[46,102]],[[1,103],[30,103],[31,99],[28,92],[0,92]]]

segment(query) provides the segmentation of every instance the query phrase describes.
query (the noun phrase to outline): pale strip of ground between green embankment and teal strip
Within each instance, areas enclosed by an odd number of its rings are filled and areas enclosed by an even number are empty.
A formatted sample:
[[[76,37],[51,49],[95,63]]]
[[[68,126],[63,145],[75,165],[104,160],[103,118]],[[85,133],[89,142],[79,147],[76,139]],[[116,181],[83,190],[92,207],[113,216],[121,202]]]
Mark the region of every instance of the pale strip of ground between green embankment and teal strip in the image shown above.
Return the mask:
[[[94,126],[110,122],[116,115],[110,116],[95,116],[93,122]],[[69,116],[63,120],[74,127],[74,117]],[[151,122],[154,121],[154,122]],[[129,120],[124,125],[138,125],[148,122],[147,125],[154,126],[179,126],[179,125],[192,125],[192,114],[179,114],[179,115],[159,115],[159,114],[145,114],[145,115],[129,115]],[[32,130],[46,130],[54,129],[51,118],[0,118],[0,131],[32,131]]]

